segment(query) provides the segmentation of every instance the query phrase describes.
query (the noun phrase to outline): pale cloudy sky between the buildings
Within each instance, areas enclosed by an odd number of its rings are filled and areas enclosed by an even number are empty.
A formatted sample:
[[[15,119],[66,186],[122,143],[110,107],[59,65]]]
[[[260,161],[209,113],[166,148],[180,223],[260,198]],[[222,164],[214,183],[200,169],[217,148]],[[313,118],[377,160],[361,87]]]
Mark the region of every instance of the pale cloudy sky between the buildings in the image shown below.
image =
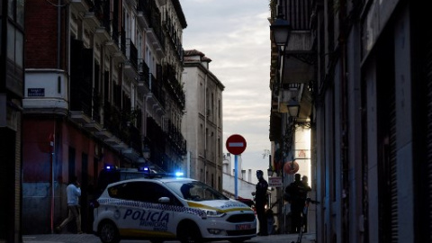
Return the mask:
[[[180,0],[187,27],[183,48],[211,58],[222,92],[223,148],[232,134],[247,141],[242,169],[268,168],[270,149],[270,16],[268,0]],[[234,163],[234,156],[231,156]],[[233,165],[234,166],[234,165]]]

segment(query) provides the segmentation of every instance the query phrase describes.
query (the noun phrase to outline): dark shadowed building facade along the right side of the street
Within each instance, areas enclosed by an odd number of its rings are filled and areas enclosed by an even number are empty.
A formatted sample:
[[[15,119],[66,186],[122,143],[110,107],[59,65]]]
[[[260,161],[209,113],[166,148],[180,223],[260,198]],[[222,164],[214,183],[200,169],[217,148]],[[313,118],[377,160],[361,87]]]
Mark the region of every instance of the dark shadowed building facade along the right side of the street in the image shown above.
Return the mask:
[[[272,92],[297,75],[311,97],[300,104],[311,119],[317,241],[431,241],[432,31],[420,27],[430,14],[407,0],[270,8],[271,23],[291,26],[283,51],[272,40]],[[270,137],[286,135],[271,116]]]

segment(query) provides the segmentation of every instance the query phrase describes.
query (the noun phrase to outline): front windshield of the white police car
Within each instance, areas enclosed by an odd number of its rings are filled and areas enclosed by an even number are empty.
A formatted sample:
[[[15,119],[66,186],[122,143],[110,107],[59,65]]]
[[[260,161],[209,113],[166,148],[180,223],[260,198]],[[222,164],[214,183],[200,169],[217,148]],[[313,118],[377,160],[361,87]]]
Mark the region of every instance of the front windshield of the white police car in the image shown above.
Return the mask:
[[[166,183],[166,186],[189,201],[229,200],[211,186],[199,181],[174,181]]]

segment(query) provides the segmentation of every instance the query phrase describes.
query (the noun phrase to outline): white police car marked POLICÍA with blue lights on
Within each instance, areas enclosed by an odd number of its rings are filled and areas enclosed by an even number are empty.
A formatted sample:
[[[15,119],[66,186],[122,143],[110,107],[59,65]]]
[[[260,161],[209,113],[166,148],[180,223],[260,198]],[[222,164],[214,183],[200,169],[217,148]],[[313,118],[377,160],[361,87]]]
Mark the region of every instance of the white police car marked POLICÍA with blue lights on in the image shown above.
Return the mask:
[[[254,211],[189,178],[135,178],[108,184],[94,205],[95,235],[121,239],[242,242],[257,236]]]

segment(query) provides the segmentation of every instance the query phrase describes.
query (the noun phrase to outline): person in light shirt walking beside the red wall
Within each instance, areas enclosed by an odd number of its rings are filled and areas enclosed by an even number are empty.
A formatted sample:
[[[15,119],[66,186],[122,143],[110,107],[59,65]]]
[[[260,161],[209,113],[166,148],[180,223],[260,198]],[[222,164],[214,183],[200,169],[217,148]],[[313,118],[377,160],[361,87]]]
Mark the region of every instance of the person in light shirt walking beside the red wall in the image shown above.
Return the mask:
[[[76,220],[76,230],[78,234],[82,234],[83,231],[81,230],[81,211],[80,211],[80,205],[79,205],[79,197],[81,196],[81,188],[80,184],[78,182],[78,178],[76,176],[73,176],[70,184],[66,187],[66,193],[67,193],[67,209],[68,209],[68,215],[61,224],[56,227],[56,230],[58,232],[63,229],[67,223],[69,223],[72,220]]]

